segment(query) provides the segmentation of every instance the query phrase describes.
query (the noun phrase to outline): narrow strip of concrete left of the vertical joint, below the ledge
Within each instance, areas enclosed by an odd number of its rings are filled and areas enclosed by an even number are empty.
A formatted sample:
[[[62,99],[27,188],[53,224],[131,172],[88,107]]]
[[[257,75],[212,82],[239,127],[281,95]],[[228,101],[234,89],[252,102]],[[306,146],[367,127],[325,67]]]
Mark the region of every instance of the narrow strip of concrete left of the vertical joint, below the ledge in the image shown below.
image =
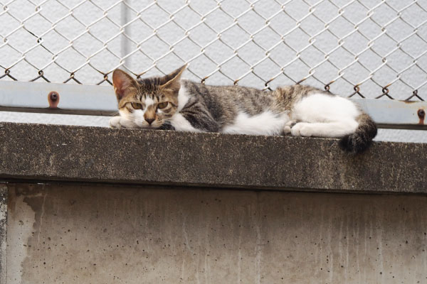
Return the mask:
[[[6,283],[7,187],[0,184],[0,283]]]

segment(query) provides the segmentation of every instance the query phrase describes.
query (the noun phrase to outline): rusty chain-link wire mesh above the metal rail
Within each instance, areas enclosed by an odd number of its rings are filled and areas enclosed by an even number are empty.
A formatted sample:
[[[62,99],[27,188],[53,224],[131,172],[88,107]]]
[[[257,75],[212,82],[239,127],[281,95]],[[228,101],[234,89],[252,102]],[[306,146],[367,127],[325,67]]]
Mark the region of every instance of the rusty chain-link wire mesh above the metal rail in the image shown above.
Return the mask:
[[[207,84],[427,99],[427,0],[11,0],[1,80],[108,84],[185,62]]]

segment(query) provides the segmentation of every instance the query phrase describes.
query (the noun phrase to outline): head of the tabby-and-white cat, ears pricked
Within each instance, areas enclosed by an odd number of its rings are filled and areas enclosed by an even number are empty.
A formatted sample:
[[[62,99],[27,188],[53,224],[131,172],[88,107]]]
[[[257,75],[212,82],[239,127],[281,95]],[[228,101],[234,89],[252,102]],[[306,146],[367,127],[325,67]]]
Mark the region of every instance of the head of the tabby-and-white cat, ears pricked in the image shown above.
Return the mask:
[[[134,80],[122,70],[112,73],[120,116],[146,129],[168,124],[178,108],[180,79],[186,65],[164,77]]]

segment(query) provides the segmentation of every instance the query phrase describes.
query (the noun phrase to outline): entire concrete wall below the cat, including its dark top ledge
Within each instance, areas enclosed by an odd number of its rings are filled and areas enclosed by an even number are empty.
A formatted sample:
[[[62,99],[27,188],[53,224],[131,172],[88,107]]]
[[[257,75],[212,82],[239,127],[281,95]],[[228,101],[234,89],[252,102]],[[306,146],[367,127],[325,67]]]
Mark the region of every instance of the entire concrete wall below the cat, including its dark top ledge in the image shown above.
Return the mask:
[[[1,284],[427,283],[425,143],[1,123],[0,145]]]

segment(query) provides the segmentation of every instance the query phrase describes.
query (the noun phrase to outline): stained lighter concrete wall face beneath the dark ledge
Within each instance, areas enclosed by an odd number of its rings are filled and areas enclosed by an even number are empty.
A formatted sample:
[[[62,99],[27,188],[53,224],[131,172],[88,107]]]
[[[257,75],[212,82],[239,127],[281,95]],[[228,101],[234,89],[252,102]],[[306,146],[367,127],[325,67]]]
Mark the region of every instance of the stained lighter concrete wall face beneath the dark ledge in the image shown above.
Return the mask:
[[[427,283],[427,197],[9,185],[8,282]]]

